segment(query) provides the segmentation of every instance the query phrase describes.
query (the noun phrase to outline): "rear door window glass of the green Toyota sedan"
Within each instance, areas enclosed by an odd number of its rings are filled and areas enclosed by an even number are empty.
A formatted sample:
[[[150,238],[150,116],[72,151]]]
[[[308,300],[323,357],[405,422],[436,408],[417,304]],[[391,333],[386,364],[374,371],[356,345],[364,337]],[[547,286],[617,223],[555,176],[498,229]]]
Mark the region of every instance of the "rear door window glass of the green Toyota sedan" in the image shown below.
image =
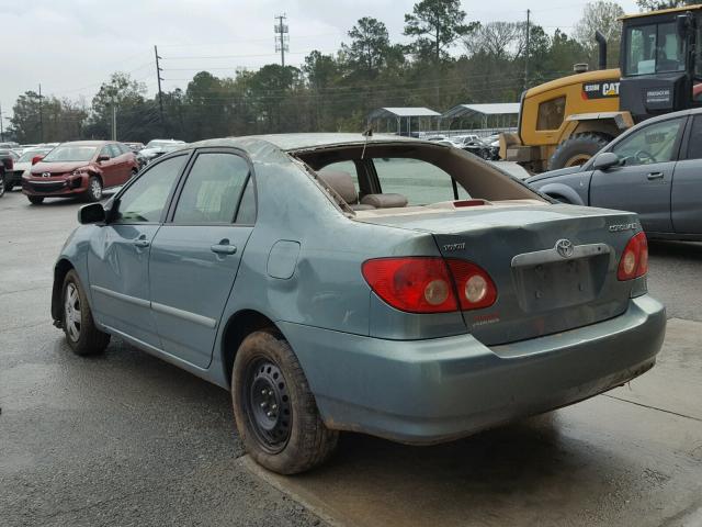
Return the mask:
[[[233,223],[248,176],[249,165],[240,156],[200,154],[178,200],[173,222]]]

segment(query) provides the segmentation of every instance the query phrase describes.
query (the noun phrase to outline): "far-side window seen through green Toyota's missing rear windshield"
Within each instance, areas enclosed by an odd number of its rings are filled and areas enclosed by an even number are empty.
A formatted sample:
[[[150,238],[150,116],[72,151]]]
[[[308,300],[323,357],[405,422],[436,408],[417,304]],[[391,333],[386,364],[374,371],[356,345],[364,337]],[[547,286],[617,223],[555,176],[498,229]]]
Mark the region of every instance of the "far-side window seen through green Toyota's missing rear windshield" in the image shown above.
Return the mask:
[[[409,205],[453,201],[451,176],[439,167],[410,158],[375,158],[375,171],[383,193],[398,193]],[[458,199],[469,198],[458,184]]]

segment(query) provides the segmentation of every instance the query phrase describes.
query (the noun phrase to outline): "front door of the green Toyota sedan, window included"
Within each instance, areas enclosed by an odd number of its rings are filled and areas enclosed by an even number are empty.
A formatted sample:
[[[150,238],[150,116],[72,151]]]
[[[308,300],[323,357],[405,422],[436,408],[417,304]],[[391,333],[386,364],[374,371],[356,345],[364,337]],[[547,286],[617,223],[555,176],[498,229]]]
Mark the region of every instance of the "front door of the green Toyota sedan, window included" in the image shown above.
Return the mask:
[[[149,301],[149,253],[186,155],[149,167],[115,199],[116,211],[88,255],[98,323],[160,348]]]

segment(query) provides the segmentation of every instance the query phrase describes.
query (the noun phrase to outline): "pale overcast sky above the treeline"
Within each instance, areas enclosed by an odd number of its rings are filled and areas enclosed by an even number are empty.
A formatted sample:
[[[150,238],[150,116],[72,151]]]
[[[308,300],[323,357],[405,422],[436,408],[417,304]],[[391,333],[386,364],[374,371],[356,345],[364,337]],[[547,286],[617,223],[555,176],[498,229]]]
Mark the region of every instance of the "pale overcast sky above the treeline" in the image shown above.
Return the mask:
[[[532,10],[534,23],[566,33],[586,0],[463,1],[467,20],[520,21]],[[89,105],[111,72],[127,71],[156,91],[154,45],[163,57],[165,90],[185,88],[200,70],[234,76],[237,67],[280,61],[274,52],[274,15],[287,14],[290,53],[299,65],[312,49],[332,53],[362,16],[383,21],[393,42],[404,42],[404,14],[414,0],[0,0],[2,48],[0,104],[3,115],[20,93],[37,90]],[[637,11],[633,0],[620,2]],[[456,47],[456,51],[460,51]],[[225,55],[226,57],[220,57]],[[218,56],[218,58],[204,58]],[[5,125],[8,123],[5,122]]]

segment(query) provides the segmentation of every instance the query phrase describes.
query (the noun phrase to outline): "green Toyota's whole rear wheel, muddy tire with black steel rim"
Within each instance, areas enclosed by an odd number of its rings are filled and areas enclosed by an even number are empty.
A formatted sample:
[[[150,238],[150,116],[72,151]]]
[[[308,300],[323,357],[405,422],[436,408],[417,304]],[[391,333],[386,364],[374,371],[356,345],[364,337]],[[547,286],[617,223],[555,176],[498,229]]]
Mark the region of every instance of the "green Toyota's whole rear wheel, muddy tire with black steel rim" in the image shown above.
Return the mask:
[[[231,372],[239,435],[249,455],[280,474],[309,470],[331,456],[339,433],[327,428],[290,344],[254,332],[239,347]]]

